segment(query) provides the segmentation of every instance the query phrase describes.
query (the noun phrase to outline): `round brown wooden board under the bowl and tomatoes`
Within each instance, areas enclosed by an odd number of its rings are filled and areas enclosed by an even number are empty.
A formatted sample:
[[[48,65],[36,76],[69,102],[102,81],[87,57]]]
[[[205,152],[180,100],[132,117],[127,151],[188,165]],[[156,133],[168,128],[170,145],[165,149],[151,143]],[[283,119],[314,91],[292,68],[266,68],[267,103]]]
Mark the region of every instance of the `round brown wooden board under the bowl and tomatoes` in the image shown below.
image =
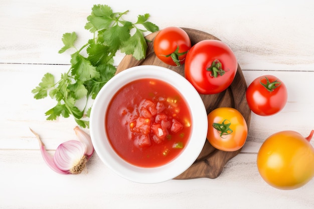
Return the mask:
[[[189,29],[189,28],[182,28],[182,29],[188,33],[191,39],[192,46],[196,44],[197,42],[200,42],[206,39],[219,40],[213,35],[210,35],[202,31]],[[122,59],[119,66],[117,67],[116,74],[127,68],[138,66],[138,65],[157,65],[157,66],[169,68],[173,71],[176,71],[180,75],[184,76],[184,65],[181,67],[170,66],[163,63],[161,60],[159,60],[155,56],[152,44],[153,44],[153,39],[158,33],[159,32],[155,32],[145,37],[146,40],[150,41],[150,42],[147,42],[148,48],[147,48],[145,59],[136,60],[131,55],[126,55]],[[247,85],[246,85],[242,70],[240,66],[238,65],[238,70],[234,78],[234,81],[227,90],[219,94],[214,94],[214,95],[202,95],[201,94],[200,96],[206,107],[207,114],[218,107],[233,107],[242,113],[249,128],[251,111],[246,102],[246,97],[245,97],[246,89],[247,89]],[[177,176],[175,179],[192,179],[192,178],[201,178],[201,177],[216,178],[222,172],[224,165],[232,157],[236,156],[240,152],[240,150],[233,151],[233,152],[221,151],[214,148],[208,142],[208,140],[206,140],[204,144],[204,148],[202,152],[200,153],[199,157],[196,159],[196,161],[185,172]]]

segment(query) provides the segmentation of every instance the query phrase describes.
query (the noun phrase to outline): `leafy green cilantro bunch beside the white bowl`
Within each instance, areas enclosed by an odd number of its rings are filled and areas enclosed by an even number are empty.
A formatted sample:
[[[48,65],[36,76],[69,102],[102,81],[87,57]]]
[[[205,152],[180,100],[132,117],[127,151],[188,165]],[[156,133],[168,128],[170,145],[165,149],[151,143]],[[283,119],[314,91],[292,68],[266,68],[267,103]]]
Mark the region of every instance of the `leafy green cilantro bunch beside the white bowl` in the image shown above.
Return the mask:
[[[116,52],[120,50],[136,60],[145,58],[147,43],[143,33],[155,32],[159,28],[147,21],[148,14],[139,15],[137,21],[132,23],[123,19],[127,13],[114,13],[107,5],[94,5],[85,25],[93,38],[79,49],[75,46],[75,32],[63,34],[64,46],[59,53],[75,50],[71,55],[70,69],[57,82],[54,75],[46,73],[32,90],[35,99],[49,95],[56,100],[57,104],[45,113],[47,120],[72,115],[78,125],[89,128],[91,105],[88,106],[88,101],[95,99],[100,89],[114,76]],[[82,55],[83,50],[87,55]],[[82,100],[85,106],[79,108],[77,103]]]

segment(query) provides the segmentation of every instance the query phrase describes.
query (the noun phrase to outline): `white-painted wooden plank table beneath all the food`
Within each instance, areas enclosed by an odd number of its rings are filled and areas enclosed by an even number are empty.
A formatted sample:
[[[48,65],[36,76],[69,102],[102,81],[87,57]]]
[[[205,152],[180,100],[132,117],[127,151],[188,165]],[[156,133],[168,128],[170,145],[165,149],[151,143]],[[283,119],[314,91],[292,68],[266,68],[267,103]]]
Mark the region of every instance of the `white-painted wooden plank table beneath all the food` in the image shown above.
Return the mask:
[[[0,0],[0,208],[314,208],[314,179],[279,190],[256,167],[257,151],[270,134],[295,130],[307,136],[314,128],[314,2],[277,2]],[[58,77],[69,69],[70,53],[58,54],[61,37],[75,31],[77,45],[85,44],[94,4],[129,10],[130,20],[148,13],[160,29],[193,28],[218,37],[235,52],[247,84],[265,74],[285,82],[285,108],[270,117],[252,113],[245,146],[216,179],[134,183],[109,170],[96,153],[80,175],[53,172],[29,127],[53,153],[76,138],[76,123],[47,121],[44,113],[55,101],[35,100],[31,90],[46,72]]]

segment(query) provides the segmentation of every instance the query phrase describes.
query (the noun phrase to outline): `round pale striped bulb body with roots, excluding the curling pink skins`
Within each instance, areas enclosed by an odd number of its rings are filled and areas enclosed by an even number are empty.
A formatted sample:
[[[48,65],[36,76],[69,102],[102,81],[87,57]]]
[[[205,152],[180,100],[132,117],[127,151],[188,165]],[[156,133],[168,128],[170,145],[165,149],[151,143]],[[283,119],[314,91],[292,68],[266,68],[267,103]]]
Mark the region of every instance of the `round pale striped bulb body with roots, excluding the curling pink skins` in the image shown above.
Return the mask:
[[[80,173],[87,162],[85,156],[86,146],[75,140],[63,142],[56,149],[53,161],[63,171]]]

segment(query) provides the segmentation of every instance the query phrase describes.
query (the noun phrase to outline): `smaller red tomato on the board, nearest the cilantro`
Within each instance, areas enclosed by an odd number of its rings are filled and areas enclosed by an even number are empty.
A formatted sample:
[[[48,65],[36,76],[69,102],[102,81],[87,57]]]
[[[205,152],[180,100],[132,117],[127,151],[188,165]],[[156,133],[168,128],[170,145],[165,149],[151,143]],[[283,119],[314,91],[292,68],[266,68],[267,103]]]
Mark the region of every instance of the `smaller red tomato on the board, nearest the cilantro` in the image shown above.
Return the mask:
[[[153,50],[161,61],[172,66],[181,66],[191,48],[187,32],[178,27],[168,27],[160,31],[154,41]]]

